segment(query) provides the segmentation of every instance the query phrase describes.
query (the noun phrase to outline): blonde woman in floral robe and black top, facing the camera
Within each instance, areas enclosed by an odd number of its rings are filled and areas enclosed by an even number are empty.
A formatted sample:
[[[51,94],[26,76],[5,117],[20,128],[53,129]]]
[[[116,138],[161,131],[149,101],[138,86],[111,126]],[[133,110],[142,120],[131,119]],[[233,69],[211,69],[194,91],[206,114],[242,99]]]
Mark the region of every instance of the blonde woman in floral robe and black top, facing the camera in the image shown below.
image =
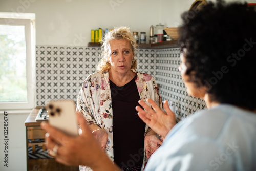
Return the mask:
[[[141,170],[162,144],[138,117],[138,100],[151,98],[162,108],[156,80],[136,71],[137,44],[128,27],[104,36],[98,72],[89,75],[77,98],[77,110],[86,118],[101,149],[122,168]],[[90,170],[80,166],[80,170]]]

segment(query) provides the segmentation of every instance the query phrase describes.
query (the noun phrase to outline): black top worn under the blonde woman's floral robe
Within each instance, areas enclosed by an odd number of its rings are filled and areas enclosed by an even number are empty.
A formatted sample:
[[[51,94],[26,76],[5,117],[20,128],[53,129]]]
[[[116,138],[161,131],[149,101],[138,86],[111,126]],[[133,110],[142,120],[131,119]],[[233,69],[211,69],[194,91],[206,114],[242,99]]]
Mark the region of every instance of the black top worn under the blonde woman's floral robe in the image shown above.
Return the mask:
[[[140,100],[135,79],[122,87],[110,81],[110,88],[113,106],[114,161],[121,168],[141,167],[145,123],[135,110]]]

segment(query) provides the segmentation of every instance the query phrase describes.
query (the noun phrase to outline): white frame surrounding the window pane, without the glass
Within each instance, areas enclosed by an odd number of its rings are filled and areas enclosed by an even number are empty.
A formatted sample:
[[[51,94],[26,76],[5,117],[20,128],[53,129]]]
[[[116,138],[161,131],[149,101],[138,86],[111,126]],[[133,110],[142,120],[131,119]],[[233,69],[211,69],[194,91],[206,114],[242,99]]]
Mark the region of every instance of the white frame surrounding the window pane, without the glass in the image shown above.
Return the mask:
[[[35,14],[0,12],[1,25],[24,25],[26,39],[27,102],[0,102],[0,111],[31,110],[35,107]],[[1,82],[4,83],[4,82]],[[3,112],[2,112],[3,113]],[[16,112],[13,112],[16,113]]]

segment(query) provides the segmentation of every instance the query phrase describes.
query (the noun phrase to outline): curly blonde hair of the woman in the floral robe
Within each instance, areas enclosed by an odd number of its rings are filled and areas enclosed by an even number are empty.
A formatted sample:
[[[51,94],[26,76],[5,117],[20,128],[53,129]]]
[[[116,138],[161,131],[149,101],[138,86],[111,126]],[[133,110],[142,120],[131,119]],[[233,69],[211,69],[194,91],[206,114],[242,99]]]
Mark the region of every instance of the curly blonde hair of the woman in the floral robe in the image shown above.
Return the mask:
[[[137,60],[136,60],[136,53],[137,53],[137,43],[133,37],[133,34],[130,31],[129,27],[115,27],[113,31],[110,31],[104,36],[102,45],[101,45],[101,59],[97,66],[98,71],[108,71],[110,69],[110,62],[109,62],[109,42],[111,40],[128,40],[131,43],[132,50],[134,53],[134,58],[132,60],[131,69],[137,69]]]

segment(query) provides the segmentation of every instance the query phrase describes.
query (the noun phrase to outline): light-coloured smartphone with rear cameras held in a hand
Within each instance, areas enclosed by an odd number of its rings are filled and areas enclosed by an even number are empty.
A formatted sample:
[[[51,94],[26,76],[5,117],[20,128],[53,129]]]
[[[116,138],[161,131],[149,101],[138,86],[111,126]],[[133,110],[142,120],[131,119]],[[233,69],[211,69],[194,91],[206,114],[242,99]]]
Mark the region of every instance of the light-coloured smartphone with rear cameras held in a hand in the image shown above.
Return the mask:
[[[69,136],[78,135],[76,107],[73,100],[51,100],[46,104],[49,124]]]

